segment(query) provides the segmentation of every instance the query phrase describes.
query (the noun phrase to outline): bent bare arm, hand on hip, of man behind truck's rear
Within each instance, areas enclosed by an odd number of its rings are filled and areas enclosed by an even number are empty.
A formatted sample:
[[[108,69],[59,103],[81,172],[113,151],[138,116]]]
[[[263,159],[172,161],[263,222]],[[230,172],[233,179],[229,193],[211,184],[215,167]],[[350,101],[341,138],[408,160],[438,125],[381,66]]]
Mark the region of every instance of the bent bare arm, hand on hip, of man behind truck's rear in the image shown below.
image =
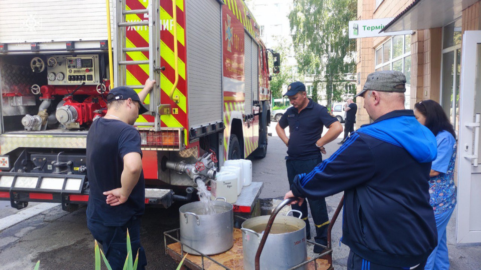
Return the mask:
[[[111,206],[119,205],[127,201],[139,181],[142,172],[142,157],[138,152],[130,152],[124,155],[124,169],[120,177],[122,187],[105,191],[107,195],[107,203]]]

